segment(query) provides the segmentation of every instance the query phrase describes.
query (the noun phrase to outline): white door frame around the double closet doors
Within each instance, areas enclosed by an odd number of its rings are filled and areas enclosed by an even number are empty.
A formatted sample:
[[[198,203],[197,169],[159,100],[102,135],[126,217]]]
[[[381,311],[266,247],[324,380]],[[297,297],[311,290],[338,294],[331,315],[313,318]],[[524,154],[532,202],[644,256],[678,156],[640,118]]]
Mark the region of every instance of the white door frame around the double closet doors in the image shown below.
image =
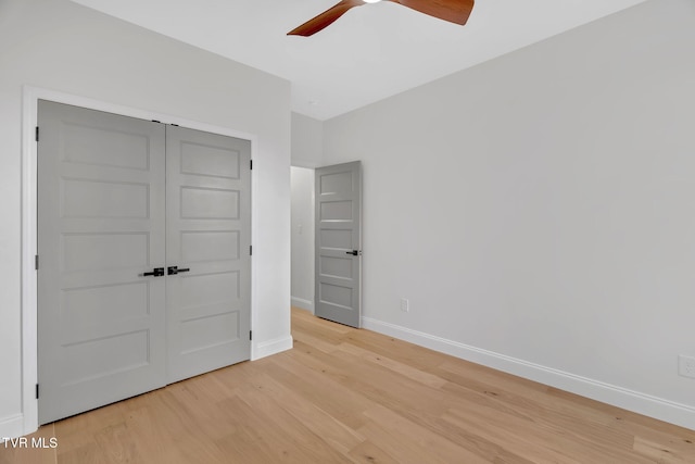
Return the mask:
[[[35,256],[38,240],[38,197],[37,197],[37,143],[35,128],[38,125],[38,101],[50,100],[58,103],[72,104],[90,110],[104,111],[146,121],[161,121],[165,124],[178,124],[182,127],[203,130],[223,136],[236,137],[251,141],[251,159],[255,159],[258,150],[258,137],[229,127],[215,126],[198,121],[181,118],[165,113],[125,106],[101,100],[94,100],[56,90],[24,86],[22,89],[22,417],[24,435],[38,429],[38,400],[36,384],[38,379],[38,334],[37,334],[37,273]],[[257,171],[251,171],[251,242],[256,243],[257,227]],[[253,260],[251,263],[251,329],[256,326],[256,278]],[[257,359],[258,347],[251,341],[251,360]]]

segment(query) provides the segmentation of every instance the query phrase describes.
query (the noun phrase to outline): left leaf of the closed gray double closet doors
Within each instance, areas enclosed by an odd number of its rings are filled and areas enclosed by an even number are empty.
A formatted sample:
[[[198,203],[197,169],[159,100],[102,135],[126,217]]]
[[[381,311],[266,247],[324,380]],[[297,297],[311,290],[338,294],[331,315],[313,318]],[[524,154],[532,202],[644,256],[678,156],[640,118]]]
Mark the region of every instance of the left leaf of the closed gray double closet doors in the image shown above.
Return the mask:
[[[165,385],[164,126],[40,101],[38,378],[46,424]]]

